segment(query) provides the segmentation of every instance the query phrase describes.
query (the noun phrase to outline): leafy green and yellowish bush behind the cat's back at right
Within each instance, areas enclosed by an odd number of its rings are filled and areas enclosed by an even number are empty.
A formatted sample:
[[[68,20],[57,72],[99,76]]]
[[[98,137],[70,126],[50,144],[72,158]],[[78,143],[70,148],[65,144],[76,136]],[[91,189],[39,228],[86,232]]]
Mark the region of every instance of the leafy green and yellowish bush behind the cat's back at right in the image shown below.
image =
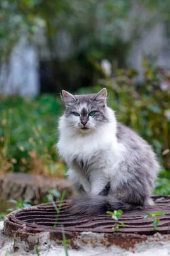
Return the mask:
[[[163,166],[155,193],[162,191],[167,195],[170,191],[170,83],[168,73],[155,67],[154,61],[143,56],[143,84],[136,85],[137,72],[131,68],[115,69],[116,76],[105,76],[99,83],[108,88],[108,105],[115,110],[118,120],[153,145]],[[94,65],[101,68],[99,63]],[[163,184],[167,184],[166,188]]]

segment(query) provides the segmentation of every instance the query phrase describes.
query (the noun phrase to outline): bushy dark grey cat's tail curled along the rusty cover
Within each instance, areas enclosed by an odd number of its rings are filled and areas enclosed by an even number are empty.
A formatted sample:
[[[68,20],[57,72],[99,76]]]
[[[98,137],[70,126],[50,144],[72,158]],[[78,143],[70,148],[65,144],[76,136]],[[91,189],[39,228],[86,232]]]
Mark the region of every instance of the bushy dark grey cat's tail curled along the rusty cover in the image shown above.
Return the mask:
[[[106,211],[132,211],[136,209],[143,209],[142,206],[127,204],[113,196],[92,196],[82,195],[73,198],[70,201],[70,212],[72,214],[100,214]]]

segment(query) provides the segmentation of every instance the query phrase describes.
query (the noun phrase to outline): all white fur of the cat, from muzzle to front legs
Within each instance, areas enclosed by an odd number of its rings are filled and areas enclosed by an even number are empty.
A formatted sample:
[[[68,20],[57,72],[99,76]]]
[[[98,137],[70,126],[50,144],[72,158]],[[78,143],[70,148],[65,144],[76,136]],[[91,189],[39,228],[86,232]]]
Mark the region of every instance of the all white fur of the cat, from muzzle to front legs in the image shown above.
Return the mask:
[[[104,186],[111,182],[112,190],[124,180],[128,180],[128,172],[118,172],[118,165],[124,159],[125,150],[122,143],[118,143],[117,120],[112,109],[106,109],[110,122],[104,123],[100,129],[95,129],[95,125],[90,120],[92,129],[89,132],[82,132],[76,129],[77,116],[69,119],[63,115],[59,120],[59,142],[57,148],[60,156],[64,158],[69,166],[69,179],[73,183],[83,185],[87,193],[97,195]],[[74,123],[74,126],[71,125]],[[77,127],[78,128],[78,127]],[[83,160],[87,163],[88,170],[82,172],[78,165],[74,164],[74,159]],[[86,174],[90,175],[90,182]]]

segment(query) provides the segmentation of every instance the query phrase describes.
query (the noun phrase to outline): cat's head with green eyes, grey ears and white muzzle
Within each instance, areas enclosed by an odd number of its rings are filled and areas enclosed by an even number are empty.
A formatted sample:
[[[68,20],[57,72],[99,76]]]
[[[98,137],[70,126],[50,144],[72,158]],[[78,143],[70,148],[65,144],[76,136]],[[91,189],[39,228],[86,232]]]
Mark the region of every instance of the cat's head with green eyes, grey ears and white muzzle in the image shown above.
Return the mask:
[[[108,122],[107,90],[105,88],[99,93],[87,95],[73,95],[63,90],[62,99],[66,106],[64,116],[70,129],[89,133],[97,131],[99,127]]]

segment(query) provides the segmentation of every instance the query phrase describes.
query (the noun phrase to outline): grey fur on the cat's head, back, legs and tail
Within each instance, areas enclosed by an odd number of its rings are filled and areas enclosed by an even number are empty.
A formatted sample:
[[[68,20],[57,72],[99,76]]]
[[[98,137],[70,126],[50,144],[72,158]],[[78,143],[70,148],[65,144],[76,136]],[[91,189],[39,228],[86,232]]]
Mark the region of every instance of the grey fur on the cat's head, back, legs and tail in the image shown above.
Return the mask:
[[[65,116],[73,115],[74,111],[80,110],[80,120],[88,121],[89,111],[95,110],[96,115],[93,116],[98,127],[109,123],[106,97],[101,97],[101,93],[89,95],[67,95],[64,99],[66,104]],[[100,129],[100,128],[99,128]],[[73,214],[99,214],[99,212],[113,211],[122,209],[130,211],[132,209],[141,209],[150,204],[150,196],[159,171],[159,163],[152,150],[152,147],[143,140],[136,132],[129,127],[117,122],[118,143],[124,145],[124,161],[119,163],[119,173],[122,177],[129,175],[130,179],[118,182],[118,175],[115,175],[114,180],[106,180],[102,183],[98,195],[91,193],[85,194],[85,188],[80,180],[73,180],[73,186],[81,196],[77,196],[71,200],[70,211]],[[83,146],[83,145],[82,145]],[[89,145],[90,147],[90,145]],[[94,182],[94,170],[96,170],[96,161],[99,166],[104,166],[103,152],[94,152],[96,158],[84,161],[80,156],[74,157],[71,168],[75,172],[81,172],[83,177],[86,177],[87,182],[92,186]],[[97,177],[97,176],[96,176]],[[104,184],[104,185],[103,185]],[[115,184],[119,184],[115,186]],[[99,186],[99,184],[98,184]]]

